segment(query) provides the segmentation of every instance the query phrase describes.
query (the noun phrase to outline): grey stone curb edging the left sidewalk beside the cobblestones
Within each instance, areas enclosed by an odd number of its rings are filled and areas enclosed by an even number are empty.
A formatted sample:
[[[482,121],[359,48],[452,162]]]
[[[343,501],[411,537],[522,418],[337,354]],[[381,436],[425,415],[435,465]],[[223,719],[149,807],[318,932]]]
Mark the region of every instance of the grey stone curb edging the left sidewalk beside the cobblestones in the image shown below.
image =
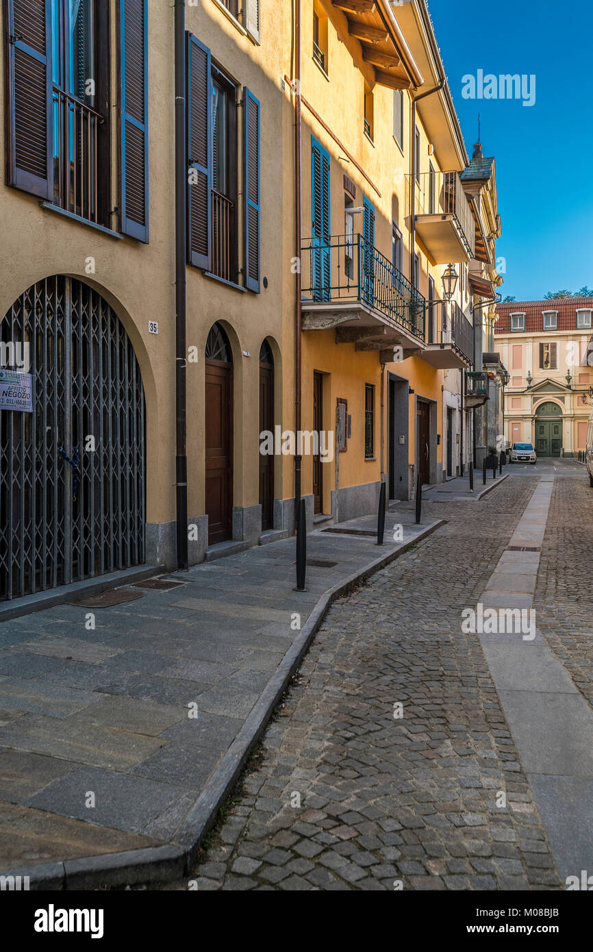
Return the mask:
[[[493,487],[492,487],[493,488]],[[28,876],[30,890],[96,889],[100,886],[123,886],[138,883],[162,883],[172,877],[186,875],[194,862],[200,843],[216,820],[221,805],[238,780],[247,758],[264,733],[274,708],[287,690],[290,680],[326,617],[330,605],[354,585],[365,582],[375,572],[403,555],[408,548],[427,538],[446,519],[438,519],[386,555],[374,559],[365,568],[329,588],[319,599],[306,620],[298,638],[267,682],[266,687],[247,717],[238,736],[218,764],[213,776],[193,804],[183,823],[177,828],[173,842],[146,849],[89,856],[62,863],[44,863],[2,872],[3,876]],[[152,569],[152,574],[154,570]]]

